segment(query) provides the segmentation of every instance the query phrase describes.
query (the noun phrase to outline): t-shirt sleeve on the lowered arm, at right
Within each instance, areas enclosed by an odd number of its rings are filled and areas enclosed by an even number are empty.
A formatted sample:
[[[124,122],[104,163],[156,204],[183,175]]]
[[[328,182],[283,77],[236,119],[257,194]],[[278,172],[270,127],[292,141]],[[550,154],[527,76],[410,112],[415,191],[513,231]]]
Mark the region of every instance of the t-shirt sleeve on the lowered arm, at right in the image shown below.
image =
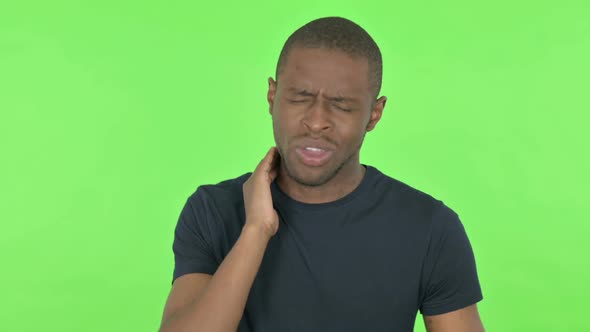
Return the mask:
[[[422,315],[439,315],[483,299],[475,256],[459,216],[440,203],[424,261]]]

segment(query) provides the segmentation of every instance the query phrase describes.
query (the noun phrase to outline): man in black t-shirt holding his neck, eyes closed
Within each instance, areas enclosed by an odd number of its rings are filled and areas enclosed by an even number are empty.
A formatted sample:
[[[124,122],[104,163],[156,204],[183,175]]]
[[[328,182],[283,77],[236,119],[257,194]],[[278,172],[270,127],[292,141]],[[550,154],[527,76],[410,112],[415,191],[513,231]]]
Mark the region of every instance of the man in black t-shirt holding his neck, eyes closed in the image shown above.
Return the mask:
[[[473,252],[442,201],[360,163],[387,98],[357,24],[295,31],[269,78],[276,147],[200,186],[175,230],[161,331],[484,331]]]

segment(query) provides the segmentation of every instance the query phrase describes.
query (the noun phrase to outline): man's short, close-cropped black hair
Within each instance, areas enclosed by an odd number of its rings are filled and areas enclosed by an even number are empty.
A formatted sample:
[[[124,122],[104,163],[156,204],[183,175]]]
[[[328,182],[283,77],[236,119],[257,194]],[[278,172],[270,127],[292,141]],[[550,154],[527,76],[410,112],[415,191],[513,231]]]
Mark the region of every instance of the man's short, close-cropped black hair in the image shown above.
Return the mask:
[[[281,50],[275,73],[277,82],[293,47],[336,49],[352,57],[366,58],[369,61],[369,83],[377,99],[383,76],[381,51],[373,38],[358,24],[343,17],[330,16],[315,19],[297,29]]]

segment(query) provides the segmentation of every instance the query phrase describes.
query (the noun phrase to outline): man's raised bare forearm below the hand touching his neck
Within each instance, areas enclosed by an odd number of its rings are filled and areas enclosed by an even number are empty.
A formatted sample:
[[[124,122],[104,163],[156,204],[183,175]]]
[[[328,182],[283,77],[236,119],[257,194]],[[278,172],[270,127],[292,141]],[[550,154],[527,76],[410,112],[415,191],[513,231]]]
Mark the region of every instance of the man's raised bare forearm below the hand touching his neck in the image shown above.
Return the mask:
[[[200,297],[170,317],[160,331],[235,332],[268,240],[268,234],[262,229],[244,226]]]

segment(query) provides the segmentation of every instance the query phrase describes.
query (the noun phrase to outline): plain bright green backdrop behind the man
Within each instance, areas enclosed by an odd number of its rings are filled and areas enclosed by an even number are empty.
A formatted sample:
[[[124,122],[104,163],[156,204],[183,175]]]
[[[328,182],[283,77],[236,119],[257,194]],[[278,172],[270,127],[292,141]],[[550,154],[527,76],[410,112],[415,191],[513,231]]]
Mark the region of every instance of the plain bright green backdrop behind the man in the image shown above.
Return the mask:
[[[284,41],[332,15],[384,58],[389,99],[361,161],[457,211],[487,330],[588,329],[589,9],[2,2],[2,330],[157,330],[184,202],[253,170]]]

